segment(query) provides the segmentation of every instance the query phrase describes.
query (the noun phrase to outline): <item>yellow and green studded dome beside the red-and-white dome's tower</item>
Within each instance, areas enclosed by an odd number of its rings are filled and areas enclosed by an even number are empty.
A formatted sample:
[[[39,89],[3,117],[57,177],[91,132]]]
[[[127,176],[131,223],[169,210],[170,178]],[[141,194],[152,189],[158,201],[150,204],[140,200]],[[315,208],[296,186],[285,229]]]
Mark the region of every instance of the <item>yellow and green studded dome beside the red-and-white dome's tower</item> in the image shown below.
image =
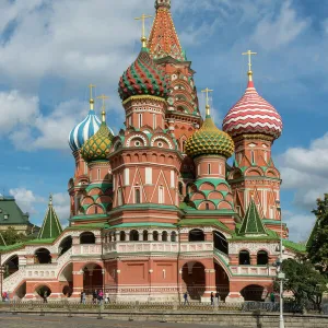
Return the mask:
[[[186,153],[191,157],[223,155],[229,159],[234,150],[231,137],[216,128],[210,115],[207,115],[201,128],[194,132],[186,143]]]

